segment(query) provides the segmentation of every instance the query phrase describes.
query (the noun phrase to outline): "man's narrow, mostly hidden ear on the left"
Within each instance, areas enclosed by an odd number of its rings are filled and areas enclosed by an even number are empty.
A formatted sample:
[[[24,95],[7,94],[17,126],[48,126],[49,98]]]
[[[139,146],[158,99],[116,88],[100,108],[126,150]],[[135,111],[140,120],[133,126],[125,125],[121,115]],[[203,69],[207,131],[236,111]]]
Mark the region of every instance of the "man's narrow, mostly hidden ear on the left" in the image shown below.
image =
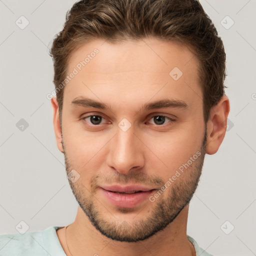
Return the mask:
[[[62,136],[61,136],[61,127],[60,127],[60,122],[59,122],[59,111],[58,111],[58,102],[55,97],[52,97],[50,99],[51,101],[51,106],[53,110],[53,126],[54,126],[54,132],[55,132],[55,138],[56,138],[56,143],[57,147],[60,152],[63,152],[63,147],[62,147]]]

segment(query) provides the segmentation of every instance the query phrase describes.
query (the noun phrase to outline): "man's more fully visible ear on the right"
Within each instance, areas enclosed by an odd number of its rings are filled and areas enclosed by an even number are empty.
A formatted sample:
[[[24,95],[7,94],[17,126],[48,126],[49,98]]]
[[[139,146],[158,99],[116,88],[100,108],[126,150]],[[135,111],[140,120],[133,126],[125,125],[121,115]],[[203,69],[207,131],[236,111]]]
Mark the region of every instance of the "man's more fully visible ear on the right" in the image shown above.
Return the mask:
[[[229,113],[229,100],[226,95],[222,96],[217,105],[210,109],[207,121],[206,153],[217,152],[226,133],[227,116]]]

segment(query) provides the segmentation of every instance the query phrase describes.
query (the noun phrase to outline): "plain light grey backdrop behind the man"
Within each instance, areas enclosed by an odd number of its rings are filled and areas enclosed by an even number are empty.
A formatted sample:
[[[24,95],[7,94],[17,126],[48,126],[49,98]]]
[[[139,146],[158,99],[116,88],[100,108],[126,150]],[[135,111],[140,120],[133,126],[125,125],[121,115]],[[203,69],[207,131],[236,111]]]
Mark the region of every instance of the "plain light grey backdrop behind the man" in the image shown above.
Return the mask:
[[[33,231],[75,217],[46,98],[54,89],[48,47],[73,2],[0,0],[0,233],[16,233],[21,220]],[[200,2],[224,42],[230,113],[218,152],[205,156],[187,234],[213,255],[256,255],[256,1]],[[21,15],[29,21],[24,29],[15,24]]]

